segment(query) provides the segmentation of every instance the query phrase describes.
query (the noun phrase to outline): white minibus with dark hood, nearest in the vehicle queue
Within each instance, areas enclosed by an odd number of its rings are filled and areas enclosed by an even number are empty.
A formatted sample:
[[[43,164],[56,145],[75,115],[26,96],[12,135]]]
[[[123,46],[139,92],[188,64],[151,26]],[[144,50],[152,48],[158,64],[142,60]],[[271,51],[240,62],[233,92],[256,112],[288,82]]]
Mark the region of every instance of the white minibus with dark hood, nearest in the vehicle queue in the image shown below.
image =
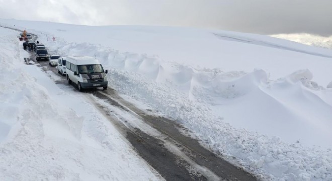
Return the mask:
[[[67,56],[67,81],[77,84],[78,90],[103,87],[107,89],[107,70],[104,71],[98,59],[90,56]]]

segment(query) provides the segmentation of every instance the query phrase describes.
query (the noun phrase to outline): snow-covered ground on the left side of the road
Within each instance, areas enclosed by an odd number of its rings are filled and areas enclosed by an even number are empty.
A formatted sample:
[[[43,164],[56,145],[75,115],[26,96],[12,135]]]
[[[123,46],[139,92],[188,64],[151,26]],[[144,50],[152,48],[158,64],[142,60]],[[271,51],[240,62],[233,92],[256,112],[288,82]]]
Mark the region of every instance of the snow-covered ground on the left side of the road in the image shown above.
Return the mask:
[[[1,180],[162,180],[89,98],[34,65],[0,28]]]

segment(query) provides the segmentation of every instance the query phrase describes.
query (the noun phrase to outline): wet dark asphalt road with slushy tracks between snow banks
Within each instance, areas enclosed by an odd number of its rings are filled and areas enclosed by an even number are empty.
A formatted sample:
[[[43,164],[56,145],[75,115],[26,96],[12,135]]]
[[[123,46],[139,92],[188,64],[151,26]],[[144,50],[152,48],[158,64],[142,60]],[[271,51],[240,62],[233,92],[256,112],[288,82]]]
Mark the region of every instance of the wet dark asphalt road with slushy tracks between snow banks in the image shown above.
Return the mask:
[[[56,52],[50,53],[56,54]],[[77,94],[86,94],[87,99],[90,99],[137,153],[165,180],[259,180],[251,173],[230,164],[201,146],[198,140],[186,136],[190,131],[177,121],[155,116],[152,110],[137,108],[120,97],[111,87],[107,90],[88,89],[80,93],[77,86],[73,83],[68,84],[65,76],[58,74],[56,68],[51,67],[48,61],[36,62],[34,52],[30,52],[30,57],[25,59],[35,62],[31,66],[39,66],[45,72],[54,72],[51,76],[60,77],[54,78],[55,83],[70,88]],[[106,105],[98,100],[103,100]],[[141,121],[141,126],[137,126],[137,122],[132,120],[119,119],[111,107],[116,107],[125,114],[137,118]]]

